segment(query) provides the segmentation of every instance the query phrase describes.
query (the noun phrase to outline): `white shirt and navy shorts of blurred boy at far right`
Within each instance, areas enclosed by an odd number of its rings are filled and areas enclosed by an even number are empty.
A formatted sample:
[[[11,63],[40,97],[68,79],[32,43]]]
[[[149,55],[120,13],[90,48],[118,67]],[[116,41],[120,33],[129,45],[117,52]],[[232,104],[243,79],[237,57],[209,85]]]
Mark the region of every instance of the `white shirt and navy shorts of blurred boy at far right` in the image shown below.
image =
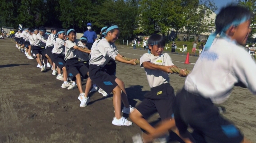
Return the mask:
[[[196,142],[240,143],[243,135],[214,104],[225,102],[237,83],[256,94],[256,78],[252,76],[255,70],[255,62],[244,47],[230,39],[215,39],[210,48],[204,48],[173,103],[180,133],[189,124]]]

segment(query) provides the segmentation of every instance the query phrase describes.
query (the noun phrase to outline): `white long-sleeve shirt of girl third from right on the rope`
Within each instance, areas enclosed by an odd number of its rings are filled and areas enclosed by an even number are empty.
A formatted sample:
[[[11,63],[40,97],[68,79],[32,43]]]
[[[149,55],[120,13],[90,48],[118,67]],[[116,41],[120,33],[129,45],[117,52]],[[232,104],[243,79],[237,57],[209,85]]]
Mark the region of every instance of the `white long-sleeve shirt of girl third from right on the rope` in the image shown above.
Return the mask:
[[[106,39],[102,39],[91,51],[91,59],[89,65],[97,65],[104,67],[112,58],[115,60],[117,54],[113,47]]]

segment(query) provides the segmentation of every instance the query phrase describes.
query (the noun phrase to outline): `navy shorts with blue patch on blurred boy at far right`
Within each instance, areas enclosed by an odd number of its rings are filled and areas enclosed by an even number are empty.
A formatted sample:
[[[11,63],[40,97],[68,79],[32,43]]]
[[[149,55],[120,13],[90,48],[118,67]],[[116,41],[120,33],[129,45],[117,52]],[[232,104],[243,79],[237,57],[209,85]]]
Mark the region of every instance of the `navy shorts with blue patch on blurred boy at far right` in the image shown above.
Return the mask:
[[[180,133],[186,132],[190,125],[197,143],[240,143],[244,139],[237,127],[219,114],[211,99],[184,88],[174,99],[173,112]]]

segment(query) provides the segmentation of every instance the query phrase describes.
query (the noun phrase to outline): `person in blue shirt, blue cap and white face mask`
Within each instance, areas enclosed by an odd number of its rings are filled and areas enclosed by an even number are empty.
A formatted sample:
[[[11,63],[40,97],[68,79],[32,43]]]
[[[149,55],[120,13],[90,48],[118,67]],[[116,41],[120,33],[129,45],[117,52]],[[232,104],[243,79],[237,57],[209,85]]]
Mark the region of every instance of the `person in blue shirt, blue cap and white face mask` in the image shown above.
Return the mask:
[[[85,37],[88,39],[87,47],[89,50],[92,49],[92,44],[97,40],[97,34],[95,31],[92,30],[92,24],[87,23],[87,31],[84,32]]]

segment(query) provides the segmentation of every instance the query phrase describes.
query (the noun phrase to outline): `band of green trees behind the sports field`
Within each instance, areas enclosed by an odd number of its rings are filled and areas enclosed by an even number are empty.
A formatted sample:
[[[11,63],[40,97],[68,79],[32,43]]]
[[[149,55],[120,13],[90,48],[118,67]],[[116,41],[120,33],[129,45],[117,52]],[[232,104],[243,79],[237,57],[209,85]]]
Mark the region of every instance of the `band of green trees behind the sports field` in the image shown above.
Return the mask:
[[[256,12],[256,0],[237,2]],[[57,26],[84,32],[90,22],[99,33],[103,26],[116,24],[120,38],[132,39],[141,34],[168,36],[172,28],[176,34],[199,36],[214,26],[210,15],[217,7],[212,0],[1,0],[0,9],[0,26]]]

